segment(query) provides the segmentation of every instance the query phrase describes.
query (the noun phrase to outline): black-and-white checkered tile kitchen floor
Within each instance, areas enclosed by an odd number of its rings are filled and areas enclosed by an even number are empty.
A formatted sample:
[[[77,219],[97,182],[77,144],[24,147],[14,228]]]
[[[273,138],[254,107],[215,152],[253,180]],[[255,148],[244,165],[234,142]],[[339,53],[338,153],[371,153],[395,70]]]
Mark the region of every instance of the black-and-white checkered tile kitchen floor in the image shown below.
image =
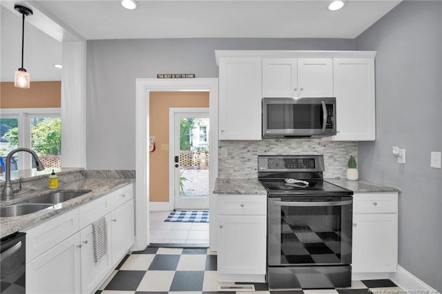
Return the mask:
[[[218,293],[216,264],[217,256],[207,248],[148,247],[126,255],[96,294]],[[352,281],[351,288],[298,291],[269,291],[267,284],[254,285],[257,294],[376,294],[401,290],[390,280]]]

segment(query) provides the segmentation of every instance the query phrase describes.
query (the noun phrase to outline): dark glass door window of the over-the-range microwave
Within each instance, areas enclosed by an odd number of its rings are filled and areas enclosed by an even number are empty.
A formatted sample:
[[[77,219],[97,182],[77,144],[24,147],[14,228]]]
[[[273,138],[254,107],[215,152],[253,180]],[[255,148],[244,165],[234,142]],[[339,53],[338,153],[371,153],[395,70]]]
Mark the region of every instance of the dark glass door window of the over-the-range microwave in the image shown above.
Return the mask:
[[[268,104],[267,128],[318,129],[323,127],[321,104]]]

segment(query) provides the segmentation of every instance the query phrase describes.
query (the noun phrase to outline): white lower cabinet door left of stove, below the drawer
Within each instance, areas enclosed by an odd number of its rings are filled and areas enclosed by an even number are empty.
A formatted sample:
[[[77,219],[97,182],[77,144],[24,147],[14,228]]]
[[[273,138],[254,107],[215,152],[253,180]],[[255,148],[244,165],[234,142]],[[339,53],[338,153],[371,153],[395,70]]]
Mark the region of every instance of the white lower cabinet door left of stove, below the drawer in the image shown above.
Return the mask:
[[[218,222],[218,273],[265,275],[266,217],[220,215]]]

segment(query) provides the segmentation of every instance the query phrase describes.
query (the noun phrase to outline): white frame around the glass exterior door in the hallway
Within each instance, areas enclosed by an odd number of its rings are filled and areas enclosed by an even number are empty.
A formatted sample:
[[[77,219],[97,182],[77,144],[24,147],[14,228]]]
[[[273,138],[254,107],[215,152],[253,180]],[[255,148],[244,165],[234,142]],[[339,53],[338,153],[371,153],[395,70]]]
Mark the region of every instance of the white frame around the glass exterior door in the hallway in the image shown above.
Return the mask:
[[[209,108],[206,107],[195,107],[195,108],[169,108],[169,203],[173,204],[175,208],[175,168],[174,157],[175,157],[175,113],[191,112],[206,114],[209,113]],[[209,113],[210,119],[210,113]],[[209,128],[209,148],[210,148],[210,130]],[[218,149],[217,149],[218,150]],[[210,153],[209,153],[210,156]],[[210,168],[210,166],[209,166]],[[210,177],[210,169],[209,169]]]

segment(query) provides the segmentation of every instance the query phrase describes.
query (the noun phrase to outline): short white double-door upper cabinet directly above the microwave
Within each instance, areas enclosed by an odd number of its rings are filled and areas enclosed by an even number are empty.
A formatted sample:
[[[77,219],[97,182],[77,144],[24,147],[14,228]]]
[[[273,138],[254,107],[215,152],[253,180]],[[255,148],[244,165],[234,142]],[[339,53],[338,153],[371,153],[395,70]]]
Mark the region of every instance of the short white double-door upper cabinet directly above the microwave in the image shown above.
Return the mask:
[[[262,97],[333,97],[331,58],[263,58]]]

